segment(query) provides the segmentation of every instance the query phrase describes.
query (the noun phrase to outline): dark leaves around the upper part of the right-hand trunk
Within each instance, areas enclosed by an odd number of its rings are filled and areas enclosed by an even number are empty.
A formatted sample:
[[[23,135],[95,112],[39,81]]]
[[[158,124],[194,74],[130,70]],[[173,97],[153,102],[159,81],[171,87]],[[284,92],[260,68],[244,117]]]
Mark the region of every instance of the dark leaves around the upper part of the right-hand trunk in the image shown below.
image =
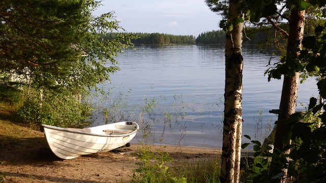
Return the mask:
[[[314,37],[315,33],[312,31],[315,27],[318,27],[318,24],[324,24],[323,13],[324,2],[321,1],[260,1],[257,4],[256,1],[242,1],[239,11],[243,12],[244,20],[250,21],[253,25],[259,27],[261,31],[270,30],[269,27],[275,28],[275,33],[273,40],[270,38],[268,42],[273,42],[273,44],[278,48],[283,55],[286,52],[286,38],[289,37],[287,33],[289,21],[289,11],[298,4],[298,9],[306,10],[306,21],[305,21],[305,35],[303,41],[303,46],[306,47],[307,43],[311,45],[311,40],[307,40],[311,37]],[[279,8],[278,8],[279,7]],[[266,24],[270,24],[266,26]],[[265,32],[264,31],[264,32]],[[308,45],[309,46],[309,45]],[[309,48],[309,47],[306,47]],[[306,69],[307,63],[305,59],[311,59],[315,55],[309,53],[308,49],[300,51],[300,57],[296,57],[294,54],[289,54],[283,56],[280,63],[276,66],[270,66],[270,68],[265,72],[268,74],[268,81],[271,78],[281,79],[282,75],[293,76],[295,72],[301,72],[301,77],[306,79],[308,76],[313,76],[313,72]]]

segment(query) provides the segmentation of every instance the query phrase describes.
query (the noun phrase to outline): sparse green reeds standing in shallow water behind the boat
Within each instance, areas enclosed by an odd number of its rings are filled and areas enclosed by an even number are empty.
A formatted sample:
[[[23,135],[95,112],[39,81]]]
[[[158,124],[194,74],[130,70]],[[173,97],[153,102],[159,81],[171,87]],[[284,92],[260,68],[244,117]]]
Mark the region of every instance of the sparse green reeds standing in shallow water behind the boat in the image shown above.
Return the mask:
[[[166,104],[165,96],[144,96],[139,104],[131,105],[128,103],[131,93],[132,89],[123,87],[103,87],[100,91],[93,91],[92,97],[87,99],[87,103],[94,108],[90,118],[93,126],[116,121],[137,121],[143,143],[164,143],[167,133],[177,132],[181,134],[178,142],[181,144],[187,126],[194,120],[186,118],[187,111],[194,110],[193,104],[183,102],[182,95],[174,95],[170,104]],[[155,132],[153,127],[159,128],[159,132]]]

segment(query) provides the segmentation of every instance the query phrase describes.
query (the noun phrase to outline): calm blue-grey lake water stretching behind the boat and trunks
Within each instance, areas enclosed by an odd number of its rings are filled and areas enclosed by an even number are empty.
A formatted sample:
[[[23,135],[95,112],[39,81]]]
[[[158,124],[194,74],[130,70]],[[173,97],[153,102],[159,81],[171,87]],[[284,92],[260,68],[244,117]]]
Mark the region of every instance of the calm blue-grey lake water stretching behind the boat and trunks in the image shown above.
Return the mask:
[[[272,51],[243,48],[242,134],[252,139],[262,140],[268,124],[273,125],[277,117],[268,110],[279,107],[282,80],[267,82],[263,75],[269,60],[279,61],[279,55],[272,55]],[[146,101],[154,100],[157,105],[152,108],[152,115],[145,115],[152,126],[151,143],[222,147],[224,46],[142,46],[125,50],[117,60],[121,71],[112,75],[111,84],[100,85],[111,88],[112,94],[101,105],[124,98],[122,103],[129,108],[124,111],[125,119],[137,120],[139,109]],[[307,105],[311,96],[317,96],[314,79],[300,85],[297,110],[302,110],[300,103]],[[165,114],[176,118],[171,127]],[[104,118],[97,117],[93,125],[103,123]],[[146,124],[140,126],[145,128]],[[141,133],[133,142],[138,140]]]

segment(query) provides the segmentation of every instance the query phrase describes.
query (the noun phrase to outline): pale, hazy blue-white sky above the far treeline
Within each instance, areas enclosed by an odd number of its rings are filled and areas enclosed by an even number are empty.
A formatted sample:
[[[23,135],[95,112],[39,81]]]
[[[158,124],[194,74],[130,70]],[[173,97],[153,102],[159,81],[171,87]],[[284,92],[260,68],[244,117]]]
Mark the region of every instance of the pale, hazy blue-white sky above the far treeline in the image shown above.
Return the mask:
[[[103,0],[98,16],[115,11],[119,25],[130,33],[193,35],[219,30],[221,16],[204,0]]]

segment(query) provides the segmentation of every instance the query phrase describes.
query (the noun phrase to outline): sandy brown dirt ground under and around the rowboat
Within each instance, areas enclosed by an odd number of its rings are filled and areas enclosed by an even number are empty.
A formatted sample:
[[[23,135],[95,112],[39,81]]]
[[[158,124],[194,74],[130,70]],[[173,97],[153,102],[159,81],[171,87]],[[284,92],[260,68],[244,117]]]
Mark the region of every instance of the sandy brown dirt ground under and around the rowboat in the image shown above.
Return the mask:
[[[106,153],[71,160],[57,158],[40,131],[0,120],[0,171],[5,182],[130,182],[140,144],[131,144]],[[167,151],[174,161],[214,161],[220,149],[180,146],[156,146]]]

